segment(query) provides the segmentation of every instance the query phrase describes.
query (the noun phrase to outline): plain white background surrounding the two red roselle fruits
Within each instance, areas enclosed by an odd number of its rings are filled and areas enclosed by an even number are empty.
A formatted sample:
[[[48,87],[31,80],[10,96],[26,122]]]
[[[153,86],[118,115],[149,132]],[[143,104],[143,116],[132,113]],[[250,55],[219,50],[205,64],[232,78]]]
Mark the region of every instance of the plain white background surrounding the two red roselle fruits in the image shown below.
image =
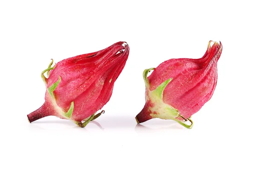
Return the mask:
[[[0,1],[0,172],[254,172],[253,1]],[[218,83],[187,130],[154,119],[142,72],[170,58],[201,58],[221,41]],[[29,124],[44,103],[50,59],[126,41],[130,55],[105,114],[85,128],[54,116]]]

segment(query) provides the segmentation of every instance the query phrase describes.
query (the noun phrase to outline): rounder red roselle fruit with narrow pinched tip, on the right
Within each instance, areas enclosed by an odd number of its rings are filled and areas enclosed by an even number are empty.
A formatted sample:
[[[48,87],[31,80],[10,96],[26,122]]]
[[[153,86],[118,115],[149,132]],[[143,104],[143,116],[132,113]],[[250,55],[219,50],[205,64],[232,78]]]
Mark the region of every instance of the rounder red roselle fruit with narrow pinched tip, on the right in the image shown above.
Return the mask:
[[[146,103],[136,116],[138,124],[151,118],[161,118],[192,128],[191,115],[209,101],[217,83],[217,62],[222,44],[214,42],[211,46],[211,42],[202,58],[170,59],[157,68],[144,70]],[[154,71],[147,77],[151,70]]]

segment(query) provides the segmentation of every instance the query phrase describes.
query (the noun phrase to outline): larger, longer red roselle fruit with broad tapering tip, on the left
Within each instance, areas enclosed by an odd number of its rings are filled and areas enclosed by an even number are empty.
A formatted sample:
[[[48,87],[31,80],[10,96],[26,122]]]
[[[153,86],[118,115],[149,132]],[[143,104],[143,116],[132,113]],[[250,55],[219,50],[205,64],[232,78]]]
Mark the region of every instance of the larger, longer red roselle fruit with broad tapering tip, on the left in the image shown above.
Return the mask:
[[[55,115],[85,127],[104,113],[95,115],[109,101],[128,55],[128,44],[120,41],[98,52],[64,59],[53,67],[52,60],[41,73],[47,89],[45,102],[27,115],[29,122]]]

